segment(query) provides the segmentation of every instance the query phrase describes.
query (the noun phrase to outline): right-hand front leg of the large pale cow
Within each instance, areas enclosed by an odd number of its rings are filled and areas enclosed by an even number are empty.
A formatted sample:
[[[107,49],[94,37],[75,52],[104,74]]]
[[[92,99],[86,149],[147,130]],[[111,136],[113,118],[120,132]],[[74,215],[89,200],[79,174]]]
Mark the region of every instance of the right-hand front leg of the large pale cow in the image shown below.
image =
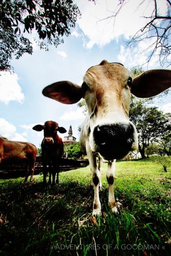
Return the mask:
[[[111,208],[112,212],[117,213],[117,204],[115,202],[113,186],[114,186],[114,176],[115,176],[115,162],[116,160],[108,162],[108,168],[106,173],[107,182],[109,185],[109,207]]]

